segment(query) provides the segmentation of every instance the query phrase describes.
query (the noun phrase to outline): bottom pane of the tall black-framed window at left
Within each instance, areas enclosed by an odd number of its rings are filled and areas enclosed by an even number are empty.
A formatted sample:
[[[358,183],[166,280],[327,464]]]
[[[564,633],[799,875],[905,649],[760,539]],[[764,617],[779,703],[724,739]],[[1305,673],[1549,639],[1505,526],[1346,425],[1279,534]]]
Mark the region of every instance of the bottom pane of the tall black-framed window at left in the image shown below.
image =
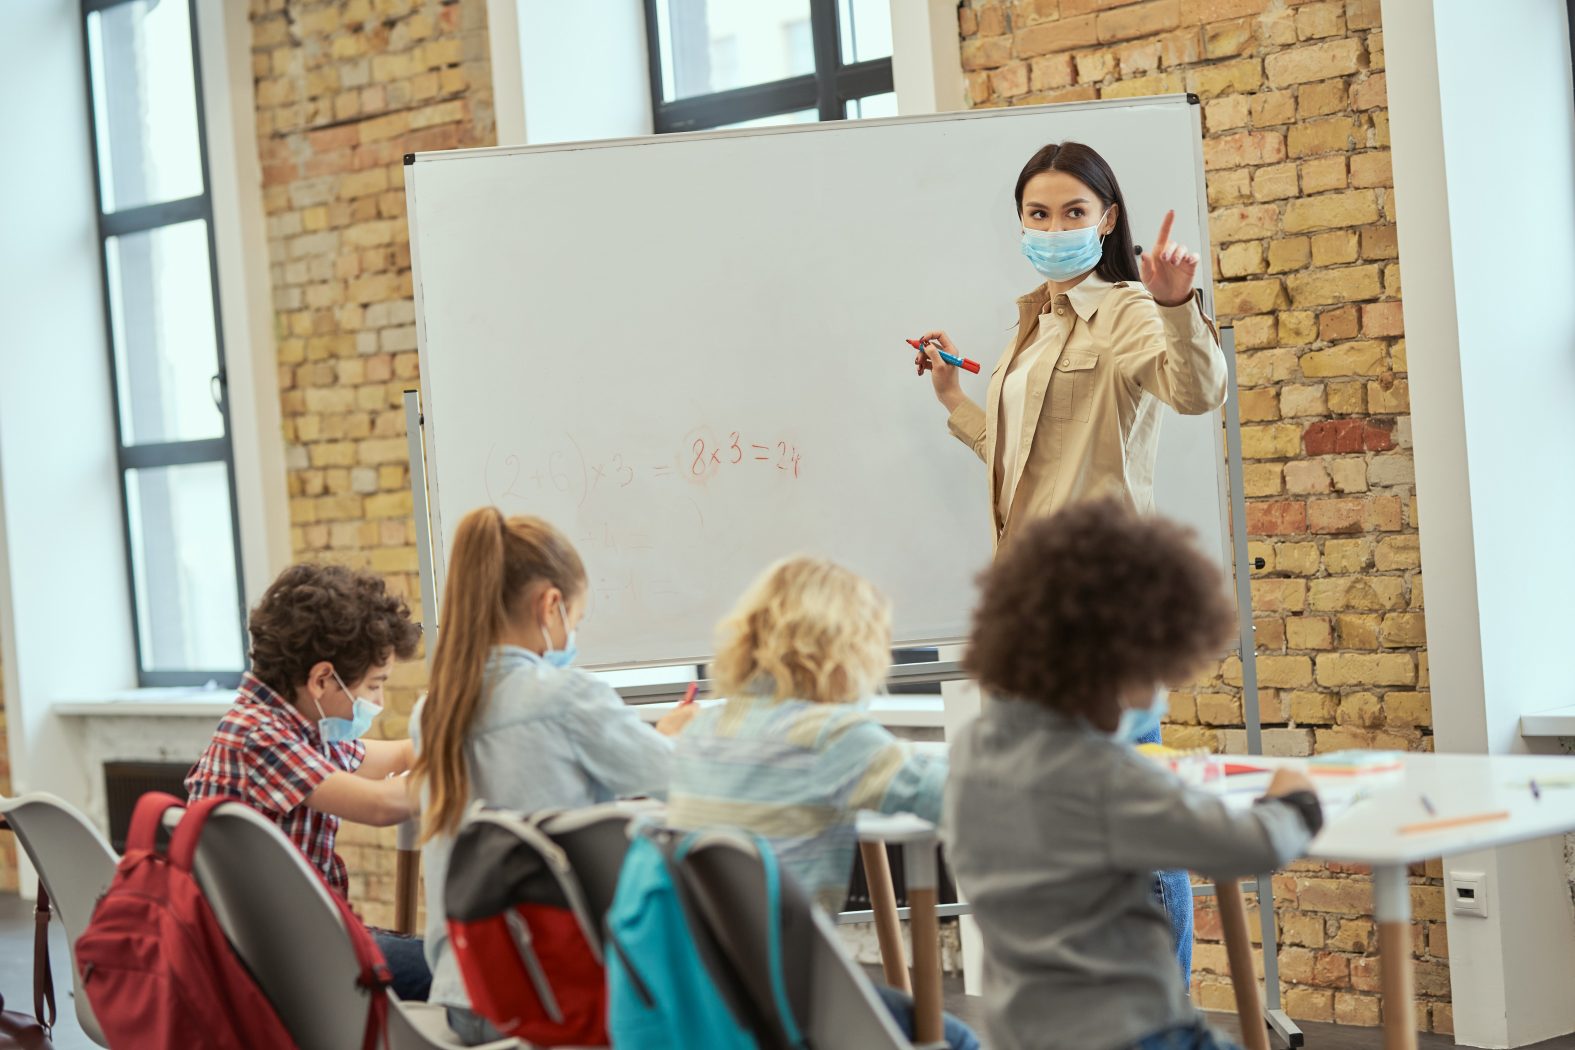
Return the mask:
[[[239,671],[230,475],[224,463],[126,471],[143,671]]]

